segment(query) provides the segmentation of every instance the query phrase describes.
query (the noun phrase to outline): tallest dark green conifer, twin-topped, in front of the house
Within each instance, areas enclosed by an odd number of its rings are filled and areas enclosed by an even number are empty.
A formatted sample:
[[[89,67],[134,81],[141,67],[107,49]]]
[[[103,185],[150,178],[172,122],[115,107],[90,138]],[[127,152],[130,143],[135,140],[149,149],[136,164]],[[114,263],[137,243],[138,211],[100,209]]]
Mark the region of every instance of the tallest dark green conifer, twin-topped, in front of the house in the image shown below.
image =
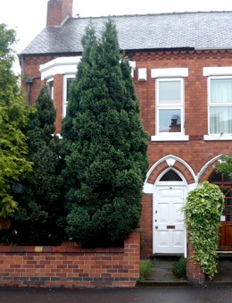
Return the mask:
[[[82,41],[62,127],[67,231],[83,246],[119,245],[139,223],[147,135],[115,24],[100,40],[90,24]]]

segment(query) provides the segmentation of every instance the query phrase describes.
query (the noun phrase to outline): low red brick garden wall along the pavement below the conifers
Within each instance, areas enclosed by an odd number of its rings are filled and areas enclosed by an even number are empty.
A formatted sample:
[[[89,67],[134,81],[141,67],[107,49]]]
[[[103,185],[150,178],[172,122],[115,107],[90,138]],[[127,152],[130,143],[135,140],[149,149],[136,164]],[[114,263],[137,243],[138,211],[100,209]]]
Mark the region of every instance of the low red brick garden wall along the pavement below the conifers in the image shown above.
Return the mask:
[[[0,246],[0,286],[134,287],[139,260],[139,231],[124,248]]]

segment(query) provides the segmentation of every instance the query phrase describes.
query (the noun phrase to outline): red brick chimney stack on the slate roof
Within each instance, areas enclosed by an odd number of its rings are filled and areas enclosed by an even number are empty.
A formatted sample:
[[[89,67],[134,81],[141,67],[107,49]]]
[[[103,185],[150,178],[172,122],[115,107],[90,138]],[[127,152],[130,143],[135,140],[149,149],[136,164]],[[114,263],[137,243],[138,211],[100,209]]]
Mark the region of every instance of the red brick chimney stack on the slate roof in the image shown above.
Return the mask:
[[[47,2],[46,26],[61,25],[67,17],[72,17],[72,0]]]

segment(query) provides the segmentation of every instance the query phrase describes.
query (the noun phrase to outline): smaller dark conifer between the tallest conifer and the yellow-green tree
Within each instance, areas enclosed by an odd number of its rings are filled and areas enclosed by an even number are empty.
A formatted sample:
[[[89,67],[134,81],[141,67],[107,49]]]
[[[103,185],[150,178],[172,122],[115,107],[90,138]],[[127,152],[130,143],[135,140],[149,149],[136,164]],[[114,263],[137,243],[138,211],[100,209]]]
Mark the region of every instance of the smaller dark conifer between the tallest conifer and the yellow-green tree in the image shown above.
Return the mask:
[[[13,227],[21,244],[52,245],[62,240],[58,226],[63,209],[62,162],[54,121],[53,100],[43,85],[25,130],[33,172],[23,182],[23,192],[17,195],[19,211]]]

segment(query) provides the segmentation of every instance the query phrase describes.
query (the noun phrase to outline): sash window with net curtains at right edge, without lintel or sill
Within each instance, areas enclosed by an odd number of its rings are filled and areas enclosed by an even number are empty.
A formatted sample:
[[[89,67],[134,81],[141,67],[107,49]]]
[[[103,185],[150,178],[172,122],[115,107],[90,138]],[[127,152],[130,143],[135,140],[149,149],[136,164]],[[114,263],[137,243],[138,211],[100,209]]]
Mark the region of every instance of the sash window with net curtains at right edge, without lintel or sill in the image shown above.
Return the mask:
[[[232,133],[232,77],[211,77],[209,88],[209,134]]]

